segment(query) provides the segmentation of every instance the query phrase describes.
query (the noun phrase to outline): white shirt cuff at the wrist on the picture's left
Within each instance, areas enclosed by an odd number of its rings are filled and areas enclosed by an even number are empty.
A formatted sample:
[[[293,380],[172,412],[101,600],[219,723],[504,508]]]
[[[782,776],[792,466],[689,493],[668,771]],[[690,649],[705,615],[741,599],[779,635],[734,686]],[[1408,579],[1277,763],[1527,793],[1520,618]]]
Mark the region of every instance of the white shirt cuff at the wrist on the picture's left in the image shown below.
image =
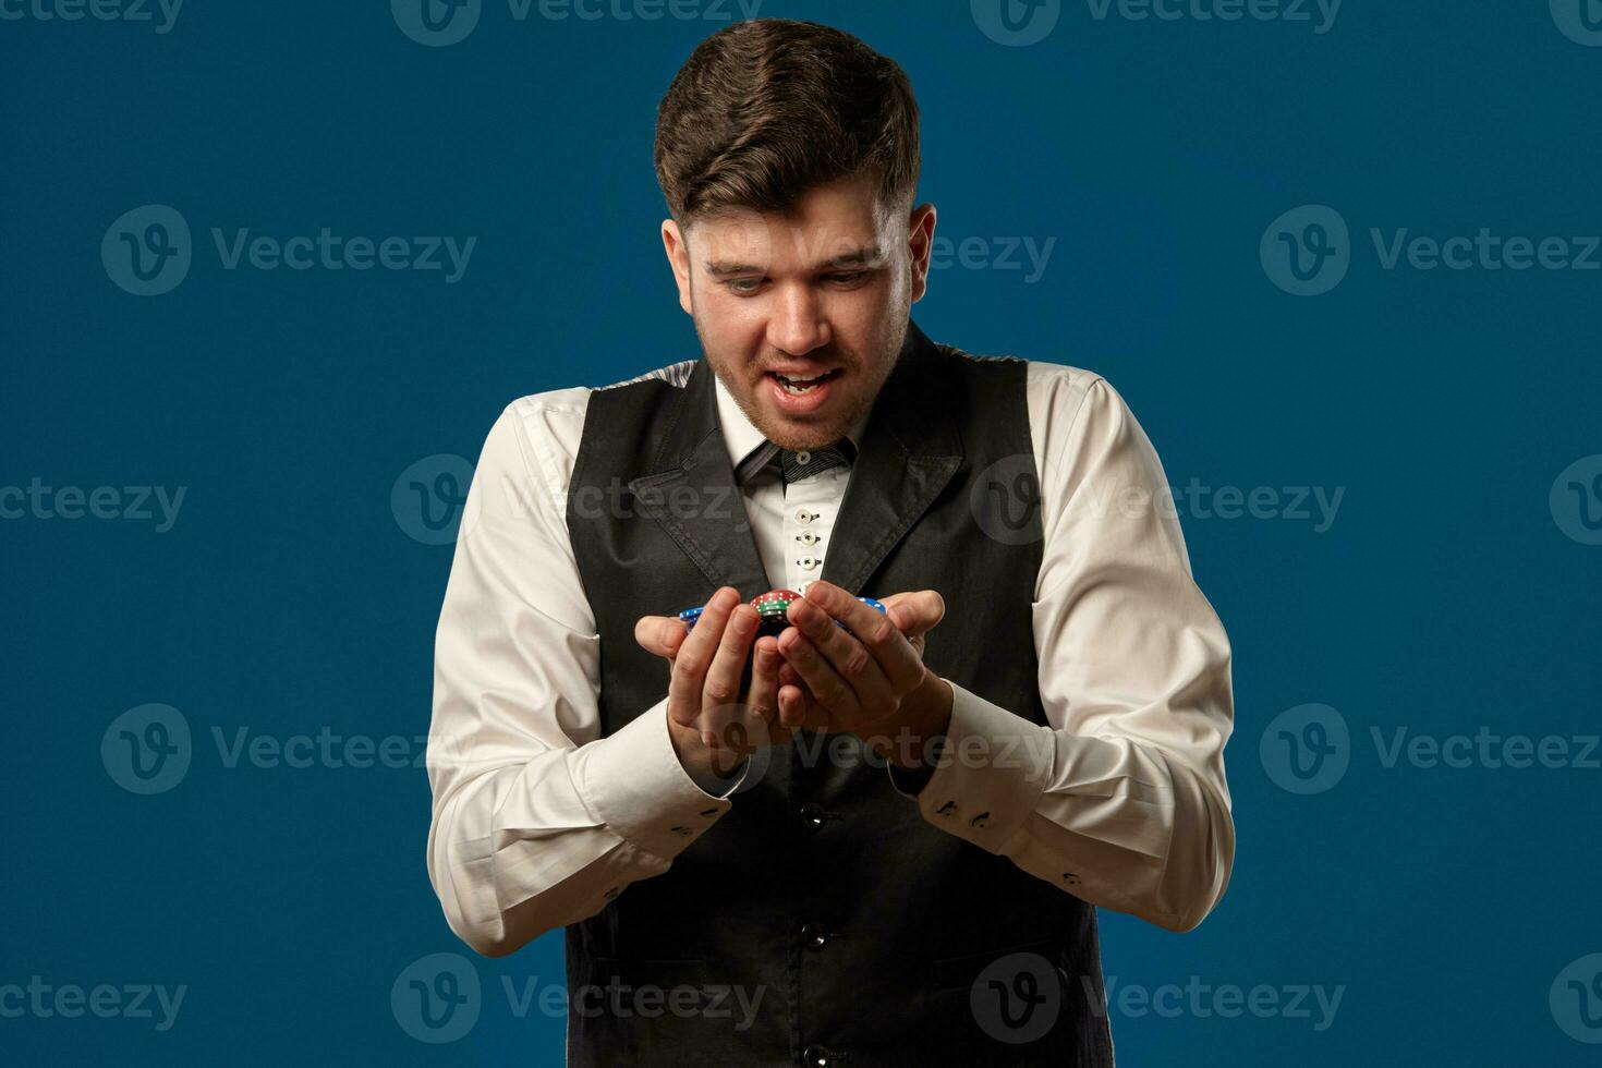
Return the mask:
[[[702,789],[679,762],[668,733],[668,698],[620,730],[578,748],[574,780],[585,802],[618,836],[658,857],[674,857],[734,807],[750,761],[732,778]]]

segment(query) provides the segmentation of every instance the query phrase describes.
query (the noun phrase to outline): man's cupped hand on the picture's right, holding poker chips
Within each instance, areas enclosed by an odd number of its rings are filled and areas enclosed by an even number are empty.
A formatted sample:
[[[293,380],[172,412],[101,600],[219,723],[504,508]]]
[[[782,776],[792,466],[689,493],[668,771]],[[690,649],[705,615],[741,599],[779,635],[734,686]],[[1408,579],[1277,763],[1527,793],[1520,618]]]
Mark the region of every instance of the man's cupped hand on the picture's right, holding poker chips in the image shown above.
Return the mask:
[[[952,687],[923,663],[923,636],[945,616],[932,589],[892,594],[884,615],[823,580],[790,605],[791,628],[779,636],[779,717],[822,706],[833,730],[847,730],[881,756],[908,767],[923,761],[928,738],[952,717]],[[846,629],[835,626],[835,621]],[[793,676],[799,684],[791,682]]]

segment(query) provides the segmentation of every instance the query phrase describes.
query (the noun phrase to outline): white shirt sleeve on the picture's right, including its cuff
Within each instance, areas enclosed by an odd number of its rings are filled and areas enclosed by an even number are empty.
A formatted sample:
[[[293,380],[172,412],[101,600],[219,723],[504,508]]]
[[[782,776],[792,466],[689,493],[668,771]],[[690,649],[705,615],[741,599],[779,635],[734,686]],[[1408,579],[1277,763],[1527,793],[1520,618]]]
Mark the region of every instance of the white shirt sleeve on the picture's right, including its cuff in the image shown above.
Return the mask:
[[[1235,855],[1229,637],[1152,442],[1102,378],[1032,365],[1043,560],[1033,724],[952,684],[924,820],[1093,905],[1190,930]],[[939,671],[939,664],[931,664]],[[950,681],[947,681],[950,682]]]

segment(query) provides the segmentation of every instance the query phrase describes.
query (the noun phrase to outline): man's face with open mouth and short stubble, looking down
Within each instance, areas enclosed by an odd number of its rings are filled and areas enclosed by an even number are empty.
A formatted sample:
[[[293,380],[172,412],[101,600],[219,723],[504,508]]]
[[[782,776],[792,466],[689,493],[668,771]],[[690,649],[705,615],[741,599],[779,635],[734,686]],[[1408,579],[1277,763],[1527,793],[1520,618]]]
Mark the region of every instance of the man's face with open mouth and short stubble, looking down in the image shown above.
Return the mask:
[[[788,215],[724,211],[682,234],[662,224],[706,362],[783,448],[836,442],[873,407],[924,293],[932,237],[932,205],[886,210],[868,178],[819,186]]]

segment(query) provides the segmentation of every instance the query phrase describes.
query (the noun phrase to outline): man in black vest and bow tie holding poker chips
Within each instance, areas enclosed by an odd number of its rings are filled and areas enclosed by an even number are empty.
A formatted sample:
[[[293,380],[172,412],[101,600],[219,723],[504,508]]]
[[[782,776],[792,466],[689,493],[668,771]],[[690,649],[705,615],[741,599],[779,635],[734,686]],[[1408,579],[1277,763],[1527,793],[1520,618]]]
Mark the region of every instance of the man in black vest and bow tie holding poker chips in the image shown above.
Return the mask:
[[[918,110],[854,37],[714,34],[655,163],[703,357],[490,429],[436,647],[452,929],[567,929],[575,1065],[1110,1065],[1093,906],[1189,930],[1234,858],[1229,640],[1150,442],[910,322]]]

